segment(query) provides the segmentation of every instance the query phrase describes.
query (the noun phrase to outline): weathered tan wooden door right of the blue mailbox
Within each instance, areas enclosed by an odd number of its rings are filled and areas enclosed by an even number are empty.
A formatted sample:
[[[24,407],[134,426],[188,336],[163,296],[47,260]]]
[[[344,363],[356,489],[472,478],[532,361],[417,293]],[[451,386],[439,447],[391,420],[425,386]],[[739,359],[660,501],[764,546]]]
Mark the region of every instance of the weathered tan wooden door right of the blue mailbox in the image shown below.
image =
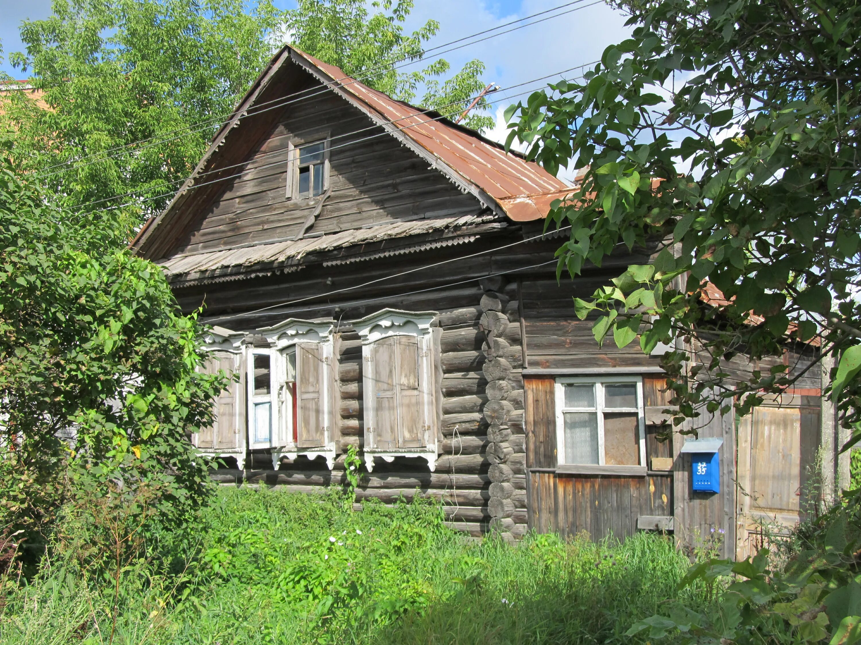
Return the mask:
[[[737,558],[756,554],[769,533],[790,531],[802,519],[805,468],[815,455],[805,439],[796,406],[765,404],[740,420]]]

